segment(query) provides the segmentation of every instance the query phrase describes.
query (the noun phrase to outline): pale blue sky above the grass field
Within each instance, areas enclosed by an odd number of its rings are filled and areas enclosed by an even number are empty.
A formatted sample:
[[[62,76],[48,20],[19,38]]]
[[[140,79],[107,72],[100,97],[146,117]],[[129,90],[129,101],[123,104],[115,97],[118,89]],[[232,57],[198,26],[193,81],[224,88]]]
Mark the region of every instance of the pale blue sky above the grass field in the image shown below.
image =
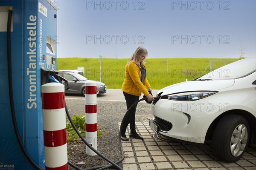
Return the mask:
[[[256,56],[256,0],[59,0],[58,58]]]

